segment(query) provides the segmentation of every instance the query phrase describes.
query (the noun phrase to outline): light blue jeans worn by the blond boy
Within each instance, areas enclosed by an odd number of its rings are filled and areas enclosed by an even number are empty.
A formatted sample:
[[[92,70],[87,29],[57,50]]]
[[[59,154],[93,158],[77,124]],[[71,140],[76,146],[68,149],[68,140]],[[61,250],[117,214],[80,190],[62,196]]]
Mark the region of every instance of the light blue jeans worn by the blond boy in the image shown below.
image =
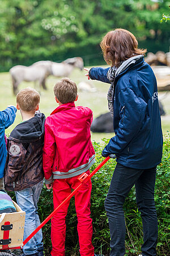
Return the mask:
[[[16,201],[22,210],[25,211],[24,240],[40,225],[39,215],[37,213],[37,203],[39,201],[43,180],[30,188],[15,191]],[[36,254],[43,247],[42,230],[35,234],[23,247],[26,255]]]

